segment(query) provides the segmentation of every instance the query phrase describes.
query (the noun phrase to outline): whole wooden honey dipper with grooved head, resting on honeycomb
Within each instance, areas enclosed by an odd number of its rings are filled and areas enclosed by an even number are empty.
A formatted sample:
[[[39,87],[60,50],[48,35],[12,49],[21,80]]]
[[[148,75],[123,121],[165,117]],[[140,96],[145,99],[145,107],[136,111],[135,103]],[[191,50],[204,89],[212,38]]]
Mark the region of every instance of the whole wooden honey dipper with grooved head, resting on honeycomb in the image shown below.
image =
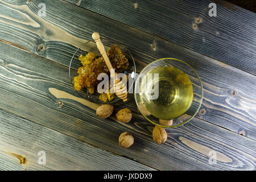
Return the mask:
[[[109,57],[106,54],[105,48],[101,42],[100,35],[98,34],[98,32],[94,32],[92,34],[92,38],[96,42],[97,48],[101,52],[101,55],[105,60],[105,63],[110,71],[110,77],[112,77],[114,79],[115,94],[119,98],[121,98],[123,101],[127,101],[127,88],[126,88],[125,84],[123,84],[122,80],[119,80],[117,78],[117,73],[114,72],[114,69],[112,67],[112,64],[109,61]]]

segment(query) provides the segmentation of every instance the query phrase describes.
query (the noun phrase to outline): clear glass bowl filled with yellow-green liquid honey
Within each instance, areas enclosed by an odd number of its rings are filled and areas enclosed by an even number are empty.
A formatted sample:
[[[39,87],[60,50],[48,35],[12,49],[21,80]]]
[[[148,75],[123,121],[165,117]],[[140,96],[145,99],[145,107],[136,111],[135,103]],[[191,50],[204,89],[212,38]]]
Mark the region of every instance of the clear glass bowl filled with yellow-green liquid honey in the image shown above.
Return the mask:
[[[169,75],[163,72],[164,67],[168,68]],[[152,76],[152,81],[144,84],[148,79],[146,75],[155,72],[159,72],[158,77]],[[170,76],[169,72],[174,75]],[[155,91],[152,92],[151,90],[154,86],[150,86],[151,84],[148,83],[156,82],[155,80],[159,80],[157,82],[160,83],[161,79],[170,80],[170,84],[168,84],[168,87],[165,87],[167,89],[164,91],[161,91],[161,89],[163,90],[163,83],[166,84],[165,82],[162,81],[161,85],[155,86],[155,88],[158,87],[159,91],[158,96],[153,98],[151,96],[152,93],[155,94]],[[184,87],[184,85],[188,86]],[[189,92],[184,92],[185,89],[189,90]],[[138,110],[148,121],[161,127],[177,127],[190,121],[199,111],[203,102],[203,84],[195,69],[189,64],[175,58],[163,58],[153,61],[141,71],[135,82],[134,96]],[[147,99],[145,100],[144,98]],[[189,98],[189,101],[186,100],[187,98]],[[182,100],[186,100],[186,102],[181,102]],[[165,101],[167,102],[165,103]],[[181,105],[179,103],[185,104]],[[172,109],[168,109],[170,105]],[[171,115],[174,118],[166,118]]]

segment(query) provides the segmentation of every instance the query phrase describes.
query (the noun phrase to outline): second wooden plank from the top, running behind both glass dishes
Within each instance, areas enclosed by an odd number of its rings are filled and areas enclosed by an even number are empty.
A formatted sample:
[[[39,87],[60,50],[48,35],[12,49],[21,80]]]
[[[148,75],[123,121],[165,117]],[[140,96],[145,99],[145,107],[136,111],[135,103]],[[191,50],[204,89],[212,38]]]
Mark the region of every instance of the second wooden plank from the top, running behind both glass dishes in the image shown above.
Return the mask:
[[[4,17],[0,22],[0,39],[68,66],[76,48],[85,40],[90,40],[92,32],[97,30],[102,37],[111,38],[122,50],[129,50],[135,57],[138,71],[162,57],[181,59],[191,64],[203,81],[204,101],[201,114],[196,117],[246,137],[256,138],[255,76],[71,3],[44,1],[47,16],[40,17],[37,15],[38,3],[0,1],[0,14]],[[2,62],[5,61],[2,58]],[[34,63],[39,64],[38,61]],[[47,65],[42,67],[52,69]],[[132,99],[127,105],[134,112],[137,111],[133,94],[128,97]],[[122,104],[117,106],[125,107]]]

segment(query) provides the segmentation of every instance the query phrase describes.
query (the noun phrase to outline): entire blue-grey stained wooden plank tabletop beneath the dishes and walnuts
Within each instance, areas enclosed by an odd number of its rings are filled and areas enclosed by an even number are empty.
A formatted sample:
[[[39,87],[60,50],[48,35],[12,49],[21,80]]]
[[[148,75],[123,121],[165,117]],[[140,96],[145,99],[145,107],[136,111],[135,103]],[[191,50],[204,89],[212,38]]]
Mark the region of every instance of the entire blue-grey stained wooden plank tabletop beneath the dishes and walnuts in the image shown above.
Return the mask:
[[[196,117],[161,145],[134,100],[114,104],[133,111],[129,123],[96,117],[68,76],[94,31],[129,49],[138,72],[162,57],[191,64],[204,86]],[[0,0],[0,40],[0,169],[255,170],[255,13],[208,0]]]

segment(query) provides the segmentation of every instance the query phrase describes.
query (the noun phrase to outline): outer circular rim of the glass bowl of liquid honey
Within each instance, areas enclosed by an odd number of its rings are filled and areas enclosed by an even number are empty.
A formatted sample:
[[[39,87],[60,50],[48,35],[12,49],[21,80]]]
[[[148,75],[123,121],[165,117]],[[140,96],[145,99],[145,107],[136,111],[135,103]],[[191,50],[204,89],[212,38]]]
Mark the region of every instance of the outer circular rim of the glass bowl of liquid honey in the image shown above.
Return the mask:
[[[182,60],[180,60],[180,59],[176,59],[176,58],[174,58],[174,57],[166,57],[166,58],[161,58],[161,59],[152,61],[150,64],[146,65],[146,67],[144,67],[144,68],[142,69],[142,71],[139,73],[138,78],[140,77],[141,73],[143,73],[143,71],[144,71],[146,68],[150,67],[150,65],[152,65],[153,63],[156,63],[156,62],[162,61],[162,60],[176,60],[176,61],[180,61],[181,63],[186,64],[189,68],[191,68],[191,69],[193,70],[193,72],[196,73],[196,76],[197,76],[197,78],[199,79],[199,82],[200,82],[201,100],[200,100],[199,107],[197,108],[197,110],[195,111],[195,113],[192,115],[191,118],[189,118],[187,121],[181,123],[180,125],[175,125],[175,126],[163,126],[163,125],[159,125],[158,123],[155,123],[155,122],[151,121],[151,119],[148,119],[147,116],[144,115],[143,112],[139,109],[139,105],[138,105],[139,102],[137,101],[137,98],[136,98],[136,94],[139,94],[139,93],[134,93],[134,98],[135,98],[135,102],[136,102],[136,105],[137,105],[137,107],[138,107],[140,113],[141,113],[141,114],[143,115],[143,117],[146,118],[149,122],[153,123],[153,124],[156,125],[156,126],[160,126],[160,127],[167,127],[167,128],[178,127],[178,126],[184,125],[185,123],[191,121],[191,119],[193,119],[193,117],[195,117],[195,115],[198,113],[198,111],[199,111],[199,109],[200,109],[200,107],[201,107],[201,105],[202,105],[202,103],[203,103],[203,94],[204,94],[204,93],[203,93],[203,90],[204,90],[204,88],[203,88],[203,83],[202,83],[202,81],[201,81],[201,78],[199,77],[199,75],[197,74],[197,72],[195,71],[195,69],[191,67],[191,65],[189,65],[189,64],[186,63],[185,61],[182,61]],[[135,88],[134,88],[135,90],[137,89],[138,81],[139,81],[139,79],[137,79],[137,80],[135,81]],[[175,119],[175,118],[174,118],[174,119]]]

